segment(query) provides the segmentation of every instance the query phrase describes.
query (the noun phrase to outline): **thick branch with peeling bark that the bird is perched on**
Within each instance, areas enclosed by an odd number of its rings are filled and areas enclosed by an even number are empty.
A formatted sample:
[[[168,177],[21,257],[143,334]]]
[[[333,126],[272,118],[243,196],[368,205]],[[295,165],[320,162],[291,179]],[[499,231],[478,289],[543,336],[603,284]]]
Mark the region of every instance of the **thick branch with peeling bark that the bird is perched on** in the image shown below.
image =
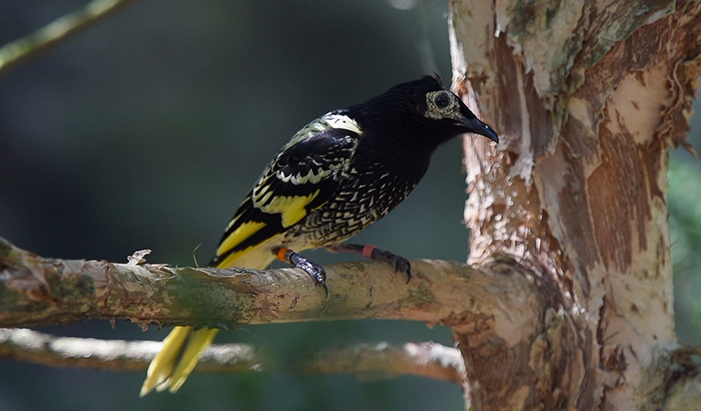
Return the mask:
[[[330,294],[299,269],[193,269],[40,258],[0,239],[0,327],[88,319],[127,319],[142,327],[342,319],[403,319],[464,325],[494,321],[519,341],[538,317],[531,283],[515,263],[473,269],[437,260],[411,262],[413,278],[387,264],[326,267]]]

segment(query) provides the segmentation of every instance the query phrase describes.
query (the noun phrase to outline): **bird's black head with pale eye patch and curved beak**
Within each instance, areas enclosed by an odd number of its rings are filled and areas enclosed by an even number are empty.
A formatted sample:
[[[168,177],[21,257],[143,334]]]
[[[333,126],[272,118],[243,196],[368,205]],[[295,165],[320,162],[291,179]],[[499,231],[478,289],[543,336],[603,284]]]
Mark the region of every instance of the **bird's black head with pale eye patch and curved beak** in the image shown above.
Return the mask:
[[[441,143],[465,132],[481,134],[499,142],[499,137],[473,111],[449,90],[443,89],[438,76],[398,84],[374,99],[349,110],[359,109],[361,119],[392,133],[400,139],[411,139],[432,152]],[[362,124],[362,123],[361,123]],[[387,134],[386,134],[387,135]]]

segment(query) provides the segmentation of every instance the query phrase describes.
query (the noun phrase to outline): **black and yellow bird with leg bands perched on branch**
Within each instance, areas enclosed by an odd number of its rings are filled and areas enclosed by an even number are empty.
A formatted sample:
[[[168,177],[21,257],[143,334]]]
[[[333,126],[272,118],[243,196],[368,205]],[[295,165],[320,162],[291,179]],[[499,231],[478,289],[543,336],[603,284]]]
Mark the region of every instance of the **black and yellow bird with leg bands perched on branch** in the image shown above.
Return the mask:
[[[328,296],[324,268],[299,254],[326,248],[385,261],[409,282],[406,258],[345,240],[401,203],[426,174],[435,150],[464,133],[499,142],[438,75],[327,112],[295,133],[267,165],[229,221],[210,267],[266,269],[280,259],[303,269]],[[141,396],[154,388],[175,393],[217,332],[175,327],[149,365]]]

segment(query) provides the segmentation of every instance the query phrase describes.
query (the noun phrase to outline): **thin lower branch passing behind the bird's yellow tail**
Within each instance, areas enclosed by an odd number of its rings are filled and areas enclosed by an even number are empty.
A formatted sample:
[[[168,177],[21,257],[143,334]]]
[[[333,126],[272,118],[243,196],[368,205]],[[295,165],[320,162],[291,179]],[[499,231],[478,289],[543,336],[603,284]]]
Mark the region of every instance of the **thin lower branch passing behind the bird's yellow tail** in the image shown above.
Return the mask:
[[[163,342],[98,340],[57,337],[27,329],[0,329],[0,357],[58,367],[109,371],[145,371]],[[271,353],[249,344],[218,344],[207,348],[195,371],[201,373],[261,371]],[[292,371],[303,374],[413,374],[460,382],[464,364],[460,352],[433,342],[407,342],[401,346],[385,342],[324,349]]]

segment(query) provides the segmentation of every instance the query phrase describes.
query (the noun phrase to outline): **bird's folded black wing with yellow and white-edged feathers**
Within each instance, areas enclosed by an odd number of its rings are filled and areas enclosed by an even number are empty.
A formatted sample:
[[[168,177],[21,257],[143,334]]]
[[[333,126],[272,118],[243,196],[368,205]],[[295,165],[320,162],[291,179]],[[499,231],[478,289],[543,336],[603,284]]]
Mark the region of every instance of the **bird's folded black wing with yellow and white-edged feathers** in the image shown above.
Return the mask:
[[[359,137],[359,129],[356,132],[333,125],[316,130],[307,126],[295,134],[239,206],[212,265],[235,265],[240,256],[324,205],[335,195],[339,171],[353,158]]]

